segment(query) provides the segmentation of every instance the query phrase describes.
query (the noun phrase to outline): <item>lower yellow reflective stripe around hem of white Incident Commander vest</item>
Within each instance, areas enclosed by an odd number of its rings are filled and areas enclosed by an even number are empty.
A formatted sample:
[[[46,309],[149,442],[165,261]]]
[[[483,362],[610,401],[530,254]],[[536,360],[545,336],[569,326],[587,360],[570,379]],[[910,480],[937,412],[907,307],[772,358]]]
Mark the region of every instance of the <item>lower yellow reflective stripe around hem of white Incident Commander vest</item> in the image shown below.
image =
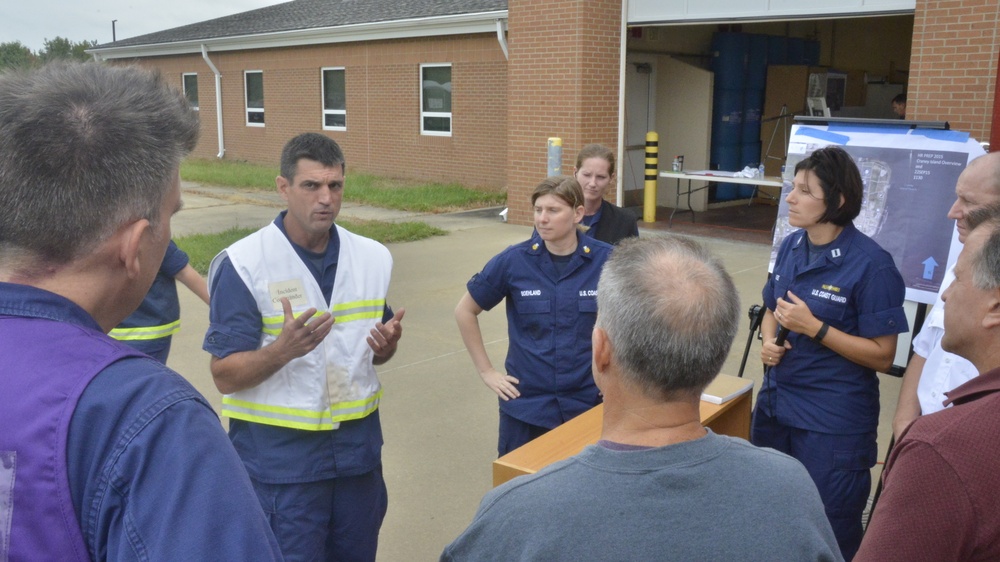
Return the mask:
[[[382,399],[382,389],[374,396],[362,400],[340,402],[328,410],[313,411],[300,408],[273,406],[237,400],[231,396],[222,397],[222,415],[243,421],[276,425],[307,431],[330,430],[335,423],[358,420],[378,409]]]

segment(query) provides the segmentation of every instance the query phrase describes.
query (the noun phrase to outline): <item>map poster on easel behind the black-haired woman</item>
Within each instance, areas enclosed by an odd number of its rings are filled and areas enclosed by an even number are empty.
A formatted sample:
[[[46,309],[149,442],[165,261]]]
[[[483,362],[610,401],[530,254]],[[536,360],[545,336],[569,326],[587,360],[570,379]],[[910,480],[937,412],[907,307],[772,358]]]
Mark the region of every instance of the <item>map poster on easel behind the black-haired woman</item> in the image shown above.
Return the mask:
[[[861,171],[865,196],[854,225],[892,254],[906,283],[906,300],[933,304],[945,271],[958,258],[955,221],[947,217],[955,183],[985,151],[968,133],[905,122],[793,125],[768,271],[781,241],[796,230],[788,224],[785,202],[795,165],[829,145],[843,146]]]

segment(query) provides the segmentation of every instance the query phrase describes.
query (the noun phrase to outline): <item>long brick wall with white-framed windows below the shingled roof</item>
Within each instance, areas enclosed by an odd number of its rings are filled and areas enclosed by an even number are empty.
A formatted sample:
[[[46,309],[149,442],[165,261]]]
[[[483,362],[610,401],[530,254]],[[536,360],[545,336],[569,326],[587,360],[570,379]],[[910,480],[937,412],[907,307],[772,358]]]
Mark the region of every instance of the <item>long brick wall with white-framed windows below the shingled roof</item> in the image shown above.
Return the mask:
[[[495,35],[465,35],[209,53],[222,72],[226,159],[277,165],[284,143],[323,132],[344,149],[348,168],[470,186],[507,185],[507,61]],[[201,141],[218,153],[215,78],[200,55],[140,61],[180,87],[198,73]],[[452,136],[420,134],[420,64],[450,63]],[[322,129],[324,67],[345,67],[347,131]],[[246,126],[243,71],[264,72],[264,127]]]

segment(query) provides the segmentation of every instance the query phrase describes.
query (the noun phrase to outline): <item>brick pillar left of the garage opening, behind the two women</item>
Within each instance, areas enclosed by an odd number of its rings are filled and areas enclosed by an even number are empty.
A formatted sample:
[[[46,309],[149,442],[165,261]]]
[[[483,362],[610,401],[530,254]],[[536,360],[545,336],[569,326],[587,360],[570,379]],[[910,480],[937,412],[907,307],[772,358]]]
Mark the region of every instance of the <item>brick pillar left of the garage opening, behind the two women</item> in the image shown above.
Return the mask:
[[[546,143],[563,139],[563,172],[596,142],[618,147],[621,0],[509,0],[508,220],[532,221]]]

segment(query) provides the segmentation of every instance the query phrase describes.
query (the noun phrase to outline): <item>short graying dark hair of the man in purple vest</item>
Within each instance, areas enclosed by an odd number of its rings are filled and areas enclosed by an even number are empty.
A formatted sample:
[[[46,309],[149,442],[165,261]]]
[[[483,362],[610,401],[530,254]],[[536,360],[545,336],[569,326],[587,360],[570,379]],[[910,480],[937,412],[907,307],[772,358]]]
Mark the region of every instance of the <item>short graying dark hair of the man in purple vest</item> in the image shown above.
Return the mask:
[[[160,221],[198,114],[159,73],[96,62],[0,74],[0,262],[64,264]]]

